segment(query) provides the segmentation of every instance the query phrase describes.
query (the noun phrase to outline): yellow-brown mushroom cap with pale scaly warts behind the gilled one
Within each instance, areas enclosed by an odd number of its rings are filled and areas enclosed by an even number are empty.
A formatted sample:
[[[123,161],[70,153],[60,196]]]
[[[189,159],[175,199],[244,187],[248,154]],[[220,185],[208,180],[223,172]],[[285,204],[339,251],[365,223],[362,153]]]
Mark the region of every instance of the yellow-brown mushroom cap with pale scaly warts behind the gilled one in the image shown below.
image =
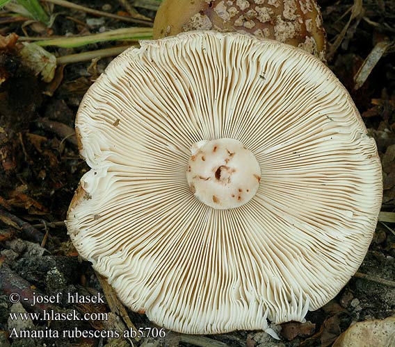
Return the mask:
[[[325,60],[326,35],[315,0],[164,0],[161,3],[154,21],[154,38],[193,30],[250,33],[298,46]]]

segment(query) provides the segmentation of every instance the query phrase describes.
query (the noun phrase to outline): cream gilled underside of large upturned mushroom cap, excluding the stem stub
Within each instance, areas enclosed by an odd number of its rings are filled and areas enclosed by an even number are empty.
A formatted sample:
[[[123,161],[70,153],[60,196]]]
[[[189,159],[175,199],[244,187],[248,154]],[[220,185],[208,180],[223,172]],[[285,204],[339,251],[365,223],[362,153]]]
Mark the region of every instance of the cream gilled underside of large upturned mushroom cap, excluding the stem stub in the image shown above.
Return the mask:
[[[355,273],[380,210],[374,140],[314,56],[239,33],[143,41],[80,105],[90,166],[67,214],[74,246],[122,302],[186,333],[303,321]],[[248,203],[198,201],[194,144],[235,139],[261,180]]]

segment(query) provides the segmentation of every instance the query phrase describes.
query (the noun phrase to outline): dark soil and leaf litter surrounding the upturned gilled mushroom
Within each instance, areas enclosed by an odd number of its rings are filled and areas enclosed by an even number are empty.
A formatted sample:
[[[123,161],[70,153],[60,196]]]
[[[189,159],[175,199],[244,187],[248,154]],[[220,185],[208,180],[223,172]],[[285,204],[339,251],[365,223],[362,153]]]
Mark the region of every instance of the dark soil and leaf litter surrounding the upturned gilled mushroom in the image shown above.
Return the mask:
[[[125,11],[120,1],[73,1],[97,10]],[[362,1],[318,1],[328,42],[333,46],[350,18],[350,8]],[[395,196],[395,3],[364,0],[355,10],[339,48],[328,66],[350,92],[376,139],[382,159],[383,212],[393,212]],[[355,5],[356,9],[357,6]],[[153,10],[138,8],[154,18]],[[92,17],[85,12],[55,6],[51,28],[31,22],[6,21],[0,16],[0,34],[20,36],[77,35],[130,26],[117,19]],[[86,25],[87,19],[99,25]],[[392,42],[366,82],[355,90],[354,76],[380,42]],[[48,47],[56,56],[92,51],[115,43],[89,44],[76,49]],[[63,221],[79,179],[88,170],[79,157],[74,117],[83,94],[112,58],[58,67],[54,83],[43,83],[15,53],[17,46],[0,49],[0,346],[331,346],[355,321],[383,319],[395,314],[395,232],[392,217],[378,223],[366,258],[350,282],[330,303],[307,314],[306,323],[285,323],[277,341],[262,332],[237,331],[209,337],[92,337],[95,332],[137,328],[156,329],[144,314],[125,309],[90,263],[82,261],[72,246]],[[45,295],[54,302],[31,306],[12,303],[10,294],[29,298]],[[57,294],[61,293],[59,297]],[[69,295],[105,298],[96,303],[70,303]],[[102,302],[103,301],[103,302]],[[13,321],[10,312],[58,314],[107,313],[107,319],[90,321],[45,319]],[[13,328],[42,331],[44,338],[13,338]],[[74,330],[91,335],[51,338],[50,332]]]

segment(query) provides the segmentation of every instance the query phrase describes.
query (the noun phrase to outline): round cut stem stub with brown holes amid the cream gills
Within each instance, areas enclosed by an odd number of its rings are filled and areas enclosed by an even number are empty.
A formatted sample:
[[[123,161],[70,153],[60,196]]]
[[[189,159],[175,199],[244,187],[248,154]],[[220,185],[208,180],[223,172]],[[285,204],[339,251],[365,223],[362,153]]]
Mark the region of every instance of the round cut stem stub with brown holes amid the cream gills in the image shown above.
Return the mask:
[[[202,203],[218,210],[237,208],[255,196],[261,168],[252,152],[235,139],[193,144],[186,179]]]

